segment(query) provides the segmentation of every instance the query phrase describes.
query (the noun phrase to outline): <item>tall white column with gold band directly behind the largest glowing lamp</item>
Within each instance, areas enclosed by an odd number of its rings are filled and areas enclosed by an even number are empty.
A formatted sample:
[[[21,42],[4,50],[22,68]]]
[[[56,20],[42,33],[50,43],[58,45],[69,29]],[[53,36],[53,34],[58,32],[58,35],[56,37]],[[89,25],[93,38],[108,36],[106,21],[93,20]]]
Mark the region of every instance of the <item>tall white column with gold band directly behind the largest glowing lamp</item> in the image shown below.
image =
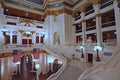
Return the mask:
[[[96,18],[96,32],[97,32],[97,45],[102,46],[102,32],[101,32],[101,14],[100,11],[100,4],[96,4],[94,6],[95,9],[95,18]]]

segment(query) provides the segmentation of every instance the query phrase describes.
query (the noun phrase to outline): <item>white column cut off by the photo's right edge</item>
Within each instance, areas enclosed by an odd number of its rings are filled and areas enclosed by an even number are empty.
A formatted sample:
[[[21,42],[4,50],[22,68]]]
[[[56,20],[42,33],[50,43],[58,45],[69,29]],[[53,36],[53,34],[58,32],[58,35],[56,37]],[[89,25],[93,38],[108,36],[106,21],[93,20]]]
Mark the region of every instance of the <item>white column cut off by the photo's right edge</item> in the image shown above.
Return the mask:
[[[114,1],[114,12],[116,22],[117,45],[120,45],[120,1]]]

